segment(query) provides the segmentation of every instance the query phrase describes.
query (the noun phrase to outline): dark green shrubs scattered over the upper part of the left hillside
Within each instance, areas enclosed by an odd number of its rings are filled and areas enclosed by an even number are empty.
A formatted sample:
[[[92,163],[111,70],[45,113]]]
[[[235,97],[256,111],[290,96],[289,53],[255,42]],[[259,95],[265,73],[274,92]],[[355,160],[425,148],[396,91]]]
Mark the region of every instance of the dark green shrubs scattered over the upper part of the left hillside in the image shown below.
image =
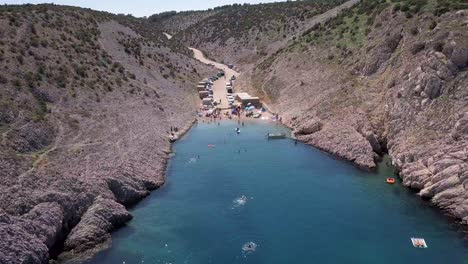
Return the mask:
[[[48,111],[46,103],[52,100],[41,87],[62,89],[69,98],[86,91],[94,94],[96,101],[122,86],[130,87],[128,92],[133,93],[137,86],[135,73],[109,56],[98,42],[99,23],[111,19],[143,36],[135,38],[119,32],[119,42],[127,54],[142,67],[145,59],[153,60],[161,65],[158,70],[165,78],[175,77],[177,66],[150,48],[171,45],[173,51],[188,54],[186,48],[168,42],[145,20],[55,5],[1,6],[0,83],[16,90],[11,93],[2,88],[1,104],[11,106],[20,94],[30,94],[37,101],[29,106],[32,118],[40,121]],[[8,119],[1,117],[0,124]]]

